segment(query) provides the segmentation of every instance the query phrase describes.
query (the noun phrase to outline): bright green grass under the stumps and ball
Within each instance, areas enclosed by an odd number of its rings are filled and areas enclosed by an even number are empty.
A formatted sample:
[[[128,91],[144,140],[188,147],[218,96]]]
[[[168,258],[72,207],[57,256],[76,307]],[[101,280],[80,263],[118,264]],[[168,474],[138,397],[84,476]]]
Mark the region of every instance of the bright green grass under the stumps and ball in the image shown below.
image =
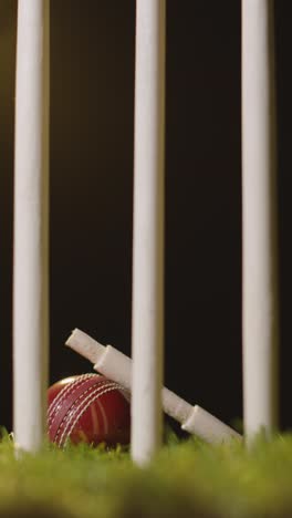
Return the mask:
[[[127,452],[45,445],[15,459],[0,443],[0,517],[289,517],[292,435],[210,446],[173,437],[150,466]]]

